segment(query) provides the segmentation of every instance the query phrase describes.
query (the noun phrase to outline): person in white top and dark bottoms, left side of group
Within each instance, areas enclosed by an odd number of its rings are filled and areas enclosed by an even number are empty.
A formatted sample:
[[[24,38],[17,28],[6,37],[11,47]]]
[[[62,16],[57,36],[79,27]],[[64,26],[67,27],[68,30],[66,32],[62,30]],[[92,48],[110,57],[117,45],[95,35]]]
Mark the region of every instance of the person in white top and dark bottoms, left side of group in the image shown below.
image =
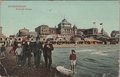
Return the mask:
[[[21,66],[21,62],[22,62],[22,47],[21,47],[21,44],[18,44],[18,48],[15,50],[15,54],[16,54],[16,64]]]

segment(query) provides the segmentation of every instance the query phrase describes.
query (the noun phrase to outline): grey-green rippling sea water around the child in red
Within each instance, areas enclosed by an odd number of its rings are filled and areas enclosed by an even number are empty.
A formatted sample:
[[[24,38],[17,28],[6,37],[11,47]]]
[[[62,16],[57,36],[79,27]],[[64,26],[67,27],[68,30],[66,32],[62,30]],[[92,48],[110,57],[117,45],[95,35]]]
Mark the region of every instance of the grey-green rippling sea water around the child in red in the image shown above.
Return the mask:
[[[55,48],[52,54],[53,66],[70,69],[69,54],[72,49],[77,54],[77,73],[74,77],[118,77],[118,45]]]

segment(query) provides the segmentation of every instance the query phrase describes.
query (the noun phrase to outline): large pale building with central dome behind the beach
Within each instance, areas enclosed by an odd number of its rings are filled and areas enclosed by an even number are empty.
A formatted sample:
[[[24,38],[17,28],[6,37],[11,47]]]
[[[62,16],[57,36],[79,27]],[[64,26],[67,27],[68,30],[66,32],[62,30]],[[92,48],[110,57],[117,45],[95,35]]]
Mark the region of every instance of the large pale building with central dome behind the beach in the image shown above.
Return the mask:
[[[87,36],[87,35],[95,35],[98,33],[97,28],[90,28],[90,29],[78,29],[75,25],[72,25],[66,19],[63,19],[58,26],[52,28],[48,25],[40,25],[35,28],[37,34],[44,39],[51,35],[54,38],[62,37],[64,39],[70,40],[73,36]]]

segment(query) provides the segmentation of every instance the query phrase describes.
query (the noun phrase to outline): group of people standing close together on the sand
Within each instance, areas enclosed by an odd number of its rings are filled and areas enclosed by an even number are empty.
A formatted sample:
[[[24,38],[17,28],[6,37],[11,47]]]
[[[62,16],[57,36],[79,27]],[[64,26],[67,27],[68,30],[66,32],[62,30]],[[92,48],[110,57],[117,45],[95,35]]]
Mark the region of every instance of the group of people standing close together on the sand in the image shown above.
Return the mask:
[[[52,64],[52,51],[54,50],[50,40],[47,40],[43,45],[39,41],[39,38],[36,40],[31,40],[30,42],[22,42],[22,44],[17,44],[14,42],[13,48],[9,53],[14,53],[16,55],[16,63],[18,66],[28,65],[31,66],[31,57],[34,56],[34,65],[36,68],[40,66],[41,54],[43,54],[45,67],[51,68]]]

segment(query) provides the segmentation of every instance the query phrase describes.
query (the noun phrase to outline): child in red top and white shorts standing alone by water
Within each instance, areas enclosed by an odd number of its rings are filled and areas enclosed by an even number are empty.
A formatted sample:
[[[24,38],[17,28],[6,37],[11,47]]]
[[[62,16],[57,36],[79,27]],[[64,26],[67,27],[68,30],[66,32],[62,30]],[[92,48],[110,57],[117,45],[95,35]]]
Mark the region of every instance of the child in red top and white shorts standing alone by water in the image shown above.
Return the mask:
[[[75,50],[71,50],[69,60],[70,60],[71,70],[73,71],[73,73],[75,73],[75,65],[76,65],[76,52],[75,52]]]

